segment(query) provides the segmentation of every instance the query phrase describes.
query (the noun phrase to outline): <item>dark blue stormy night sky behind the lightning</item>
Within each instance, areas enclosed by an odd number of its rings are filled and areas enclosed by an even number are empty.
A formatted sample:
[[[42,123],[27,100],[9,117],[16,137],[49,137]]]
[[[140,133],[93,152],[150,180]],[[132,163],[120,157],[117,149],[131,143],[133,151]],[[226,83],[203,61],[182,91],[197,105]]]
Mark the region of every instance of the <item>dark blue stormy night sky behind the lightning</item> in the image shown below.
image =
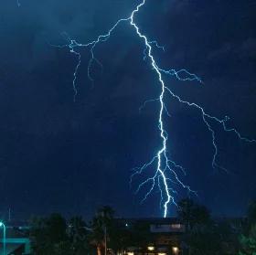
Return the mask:
[[[143,194],[129,187],[131,169],[157,148],[159,86],[143,44],[128,25],[118,27],[95,51],[103,69],[87,78],[82,55],[79,95],[73,102],[76,58],[61,37],[86,43],[128,16],[138,1],[0,0],[0,212],[15,218],[60,211],[91,217],[111,205],[119,216],[161,216],[159,193],[140,205]],[[165,46],[155,50],[161,67],[189,69],[204,85],[165,78],[168,87],[205,107],[248,137],[256,137],[256,4],[252,0],[147,0],[136,17],[142,31]],[[199,112],[170,99],[165,118],[168,150],[187,168],[186,183],[215,215],[241,215],[256,197],[256,144],[240,142],[218,125],[219,163]],[[135,182],[136,183],[136,182]],[[180,197],[186,193],[177,189]],[[170,210],[174,214],[175,207]]]

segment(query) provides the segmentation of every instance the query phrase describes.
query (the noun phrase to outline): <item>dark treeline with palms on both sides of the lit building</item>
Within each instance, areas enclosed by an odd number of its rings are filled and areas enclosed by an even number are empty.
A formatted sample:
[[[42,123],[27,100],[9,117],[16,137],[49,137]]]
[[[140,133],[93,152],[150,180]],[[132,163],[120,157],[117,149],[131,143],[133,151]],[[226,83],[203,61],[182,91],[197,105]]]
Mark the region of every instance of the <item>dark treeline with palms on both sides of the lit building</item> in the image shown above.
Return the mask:
[[[178,203],[177,218],[185,226],[181,242],[190,255],[256,255],[256,201],[246,218],[211,218],[207,207],[187,198]],[[122,228],[112,207],[99,208],[90,222],[52,214],[32,218],[30,226],[35,255],[102,255],[105,244],[108,253],[116,254],[129,246],[147,246],[150,241],[148,223],[138,221],[133,228]]]

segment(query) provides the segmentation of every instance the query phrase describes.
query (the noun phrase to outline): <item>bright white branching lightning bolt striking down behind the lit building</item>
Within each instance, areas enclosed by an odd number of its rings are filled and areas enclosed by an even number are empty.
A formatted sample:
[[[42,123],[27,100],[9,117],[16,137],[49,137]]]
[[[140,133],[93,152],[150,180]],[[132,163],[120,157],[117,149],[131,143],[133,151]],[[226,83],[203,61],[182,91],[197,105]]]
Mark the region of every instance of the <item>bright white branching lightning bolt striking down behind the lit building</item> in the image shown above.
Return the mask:
[[[143,0],[139,5],[137,5],[130,16],[119,19],[106,34],[102,34],[99,37],[97,37],[95,40],[92,40],[91,42],[87,44],[81,44],[78,43],[75,39],[71,39],[68,37],[68,44],[56,46],[59,48],[69,48],[69,52],[74,54],[78,58],[77,65],[73,72],[73,90],[74,90],[74,101],[76,100],[76,96],[78,94],[78,90],[76,87],[76,80],[78,75],[78,70],[80,69],[80,61],[81,56],[80,52],[78,51],[78,48],[89,48],[91,52],[91,58],[88,63],[88,78],[89,80],[93,81],[93,78],[91,77],[91,68],[94,64],[101,66],[101,62],[95,57],[94,49],[101,43],[106,42],[111,36],[112,32],[115,30],[116,27],[118,27],[121,23],[129,23],[129,25],[133,28],[135,35],[139,37],[144,44],[144,60],[148,60],[151,64],[151,67],[153,71],[155,72],[155,75],[157,77],[157,80],[160,85],[160,94],[157,96],[157,98],[149,101],[145,101],[142,107],[140,108],[140,111],[145,107],[146,103],[157,101],[160,105],[160,110],[158,112],[158,128],[159,128],[159,136],[161,138],[161,144],[157,151],[157,153],[153,156],[153,158],[146,164],[134,168],[133,175],[131,175],[131,184],[133,182],[133,177],[135,175],[142,175],[144,171],[150,169],[154,169],[153,175],[145,179],[136,189],[136,193],[141,190],[143,186],[150,185],[150,188],[144,195],[143,201],[155,190],[155,188],[158,187],[160,191],[161,201],[160,201],[160,207],[163,208],[164,211],[164,217],[168,215],[168,207],[170,204],[176,205],[175,195],[176,190],[172,188],[172,185],[179,185],[182,188],[186,189],[188,193],[192,192],[194,194],[197,194],[195,191],[193,191],[190,186],[187,186],[184,184],[179,177],[178,172],[182,172],[183,175],[186,175],[185,169],[181,165],[177,165],[175,161],[171,159],[171,156],[167,152],[166,144],[168,141],[168,135],[165,132],[165,122],[164,122],[164,115],[165,113],[170,116],[169,112],[167,111],[167,108],[165,106],[165,95],[169,95],[172,98],[174,98],[179,103],[187,105],[189,108],[196,108],[197,111],[201,114],[202,121],[205,123],[206,127],[208,128],[208,132],[211,135],[212,138],[212,146],[214,148],[214,154],[212,157],[212,167],[213,168],[220,168],[225,171],[227,171],[226,168],[219,165],[217,163],[217,157],[218,157],[218,145],[216,142],[216,132],[214,128],[212,127],[212,122],[217,122],[221,127],[223,128],[224,132],[232,132],[237,135],[237,137],[245,142],[248,143],[255,143],[256,141],[253,139],[249,139],[246,137],[243,137],[238,130],[235,128],[230,128],[228,126],[229,117],[225,117],[223,120],[219,119],[218,117],[215,117],[208,112],[204,110],[203,107],[198,105],[195,102],[190,102],[182,99],[180,96],[176,95],[176,93],[173,92],[170,88],[168,88],[165,85],[164,76],[171,76],[175,77],[177,80],[197,80],[198,82],[202,83],[202,80],[197,77],[197,75],[190,73],[187,71],[187,69],[162,69],[158,66],[156,63],[154,54],[153,54],[153,48],[160,48],[162,50],[165,50],[164,47],[159,46],[157,41],[155,40],[149,40],[148,37],[146,37],[140,30],[140,27],[135,23],[134,16],[137,15],[140,11],[140,9],[145,5],[146,0]]]

